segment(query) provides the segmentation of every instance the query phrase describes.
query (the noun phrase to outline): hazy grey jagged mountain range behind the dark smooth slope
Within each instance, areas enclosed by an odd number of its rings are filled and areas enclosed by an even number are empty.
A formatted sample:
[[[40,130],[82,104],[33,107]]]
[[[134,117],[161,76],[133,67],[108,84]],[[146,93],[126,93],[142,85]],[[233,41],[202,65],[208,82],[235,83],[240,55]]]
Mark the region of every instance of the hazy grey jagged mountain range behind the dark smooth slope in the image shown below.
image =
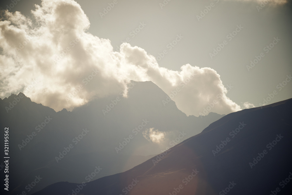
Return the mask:
[[[223,116],[187,117],[174,101],[164,106],[162,101],[169,97],[152,82],[132,82],[131,88],[128,98],[99,98],[72,112],[55,112],[22,93],[0,99],[1,128],[9,125],[10,190],[17,187],[13,194],[32,194],[60,181],[88,182],[86,176],[99,166],[102,169],[90,181],[126,171]],[[143,121],[147,124],[142,127]],[[149,128],[165,132],[165,139],[145,139],[142,132]],[[171,141],[179,136],[178,142]],[[27,187],[38,175],[38,184]]]

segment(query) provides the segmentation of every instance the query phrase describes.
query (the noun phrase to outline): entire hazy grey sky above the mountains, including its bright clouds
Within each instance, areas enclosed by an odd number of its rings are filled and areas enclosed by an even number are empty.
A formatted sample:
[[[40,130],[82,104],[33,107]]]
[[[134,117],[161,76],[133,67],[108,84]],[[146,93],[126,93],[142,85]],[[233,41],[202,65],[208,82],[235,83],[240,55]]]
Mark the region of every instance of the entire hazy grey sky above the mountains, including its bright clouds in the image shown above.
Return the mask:
[[[121,90],[126,98],[130,80],[152,81],[181,111],[198,116],[292,97],[291,1],[0,6],[7,9],[0,22],[2,99],[23,92],[55,111],[72,110]]]

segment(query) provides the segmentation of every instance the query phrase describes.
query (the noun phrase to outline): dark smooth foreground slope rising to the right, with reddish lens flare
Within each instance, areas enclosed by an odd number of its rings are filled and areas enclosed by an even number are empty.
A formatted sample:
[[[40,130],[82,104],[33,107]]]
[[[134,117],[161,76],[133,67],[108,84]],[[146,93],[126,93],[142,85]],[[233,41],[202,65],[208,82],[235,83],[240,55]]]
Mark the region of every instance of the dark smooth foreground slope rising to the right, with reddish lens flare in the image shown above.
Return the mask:
[[[291,194],[292,99],[231,113],[134,168],[35,195]]]

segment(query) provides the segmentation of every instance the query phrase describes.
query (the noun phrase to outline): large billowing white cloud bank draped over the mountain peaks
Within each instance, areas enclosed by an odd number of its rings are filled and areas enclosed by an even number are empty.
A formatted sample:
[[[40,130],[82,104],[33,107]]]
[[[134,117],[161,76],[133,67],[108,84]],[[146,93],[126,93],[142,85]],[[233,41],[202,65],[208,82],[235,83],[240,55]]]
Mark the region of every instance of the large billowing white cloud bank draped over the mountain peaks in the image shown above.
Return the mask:
[[[126,96],[127,83],[135,80],[152,81],[168,95],[176,94],[172,99],[187,115],[198,116],[208,103],[218,100],[218,94],[222,98],[212,112],[241,109],[226,96],[220,75],[211,68],[190,64],[180,71],[162,68],[154,56],[128,43],[121,45],[120,52],[113,51],[108,39],[86,33],[89,20],[75,1],[43,0],[32,14],[36,23],[8,11],[0,22],[1,98],[23,92],[38,78],[25,95],[56,111],[71,110],[121,90]]]

